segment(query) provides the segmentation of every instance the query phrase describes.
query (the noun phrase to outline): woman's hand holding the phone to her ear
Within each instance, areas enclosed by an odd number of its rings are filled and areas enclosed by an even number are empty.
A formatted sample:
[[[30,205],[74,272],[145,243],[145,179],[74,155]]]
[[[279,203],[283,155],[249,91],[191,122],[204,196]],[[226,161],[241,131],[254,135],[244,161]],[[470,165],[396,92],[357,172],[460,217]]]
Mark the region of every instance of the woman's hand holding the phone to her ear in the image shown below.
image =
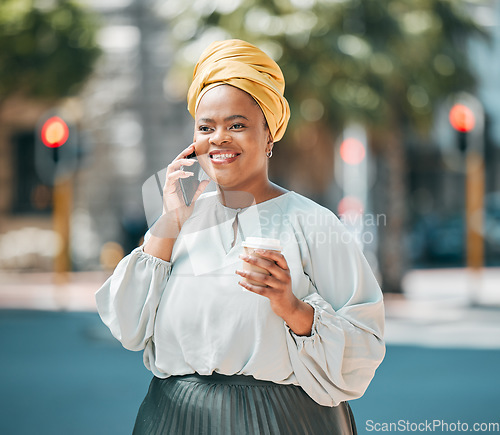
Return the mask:
[[[187,159],[186,157],[192,154],[194,150],[195,147],[193,143],[184,149],[172,163],[167,166],[167,176],[165,185],[163,186],[163,217],[166,217],[170,223],[175,224],[175,229],[177,231],[180,231],[184,222],[191,216],[194,203],[209,183],[209,180],[203,180],[200,183],[191,204],[187,206],[184,202],[179,179],[193,176],[193,173],[186,169],[194,164],[195,160]],[[186,168],[183,170],[181,168],[182,166]]]

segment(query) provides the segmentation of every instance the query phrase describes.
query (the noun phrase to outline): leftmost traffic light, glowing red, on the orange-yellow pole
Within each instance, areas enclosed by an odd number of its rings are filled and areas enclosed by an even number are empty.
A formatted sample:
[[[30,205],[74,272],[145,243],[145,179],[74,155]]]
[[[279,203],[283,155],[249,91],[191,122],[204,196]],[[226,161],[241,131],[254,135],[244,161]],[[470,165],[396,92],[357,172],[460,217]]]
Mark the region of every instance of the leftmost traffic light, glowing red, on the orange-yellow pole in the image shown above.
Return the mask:
[[[42,116],[35,129],[35,168],[47,185],[73,174],[77,167],[76,128],[57,113]]]

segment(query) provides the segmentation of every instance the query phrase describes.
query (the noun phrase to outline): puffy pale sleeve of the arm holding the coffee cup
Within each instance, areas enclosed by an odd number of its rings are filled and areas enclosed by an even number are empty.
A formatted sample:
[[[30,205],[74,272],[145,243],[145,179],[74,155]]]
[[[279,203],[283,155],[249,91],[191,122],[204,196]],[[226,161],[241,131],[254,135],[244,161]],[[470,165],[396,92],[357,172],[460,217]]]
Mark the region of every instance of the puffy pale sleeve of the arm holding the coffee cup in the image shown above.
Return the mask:
[[[363,395],[384,358],[384,307],[353,236],[333,213],[328,222],[303,233],[310,288],[302,300],[314,308],[311,335],[285,329],[301,387],[321,405],[337,406]]]

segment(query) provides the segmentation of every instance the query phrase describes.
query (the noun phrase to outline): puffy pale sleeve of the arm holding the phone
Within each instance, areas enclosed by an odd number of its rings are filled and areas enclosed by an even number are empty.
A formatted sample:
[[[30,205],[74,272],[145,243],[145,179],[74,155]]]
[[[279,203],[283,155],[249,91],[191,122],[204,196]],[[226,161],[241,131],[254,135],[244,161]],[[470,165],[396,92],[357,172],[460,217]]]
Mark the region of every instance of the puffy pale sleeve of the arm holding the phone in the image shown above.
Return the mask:
[[[142,350],[152,337],[156,309],[171,264],[134,249],[96,293],[97,311],[123,347]]]

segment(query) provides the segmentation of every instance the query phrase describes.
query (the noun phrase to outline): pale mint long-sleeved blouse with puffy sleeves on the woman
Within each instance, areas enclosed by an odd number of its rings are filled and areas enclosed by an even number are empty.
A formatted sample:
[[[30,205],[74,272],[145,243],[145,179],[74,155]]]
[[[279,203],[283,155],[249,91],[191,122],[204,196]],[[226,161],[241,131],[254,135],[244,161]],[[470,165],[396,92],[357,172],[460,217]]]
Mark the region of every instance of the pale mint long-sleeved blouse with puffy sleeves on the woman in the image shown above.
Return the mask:
[[[310,336],[238,284],[252,236],[281,241],[293,292],[314,308]],[[202,195],[170,262],[136,248],[96,300],[112,334],[160,378],[251,375],[336,406],[364,393],[385,354],[383,298],[366,259],[331,211],[295,192],[237,210]]]

